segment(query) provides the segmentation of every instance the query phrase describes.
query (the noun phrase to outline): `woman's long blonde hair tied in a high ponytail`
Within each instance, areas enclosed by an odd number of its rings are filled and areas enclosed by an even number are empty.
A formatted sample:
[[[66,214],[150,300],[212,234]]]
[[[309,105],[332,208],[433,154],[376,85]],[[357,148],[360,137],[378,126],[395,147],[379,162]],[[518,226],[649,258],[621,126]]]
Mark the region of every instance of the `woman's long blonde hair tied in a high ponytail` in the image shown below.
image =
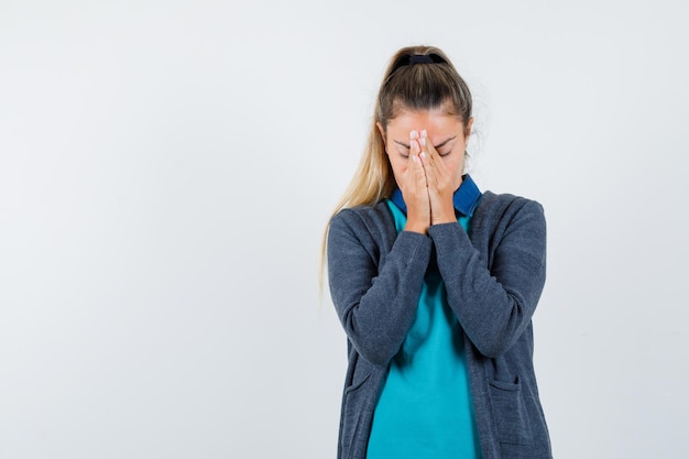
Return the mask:
[[[427,57],[419,62],[414,61],[413,56]],[[390,197],[395,189],[395,177],[378,124],[385,131],[387,122],[401,110],[439,107],[445,108],[448,114],[460,118],[467,128],[472,110],[471,92],[450,59],[434,46],[406,46],[398,50],[390,59],[381,83],[369,139],[359,166],[330,219],[344,208],[373,206]],[[329,227],[328,221],[320,243],[318,285],[321,293]]]

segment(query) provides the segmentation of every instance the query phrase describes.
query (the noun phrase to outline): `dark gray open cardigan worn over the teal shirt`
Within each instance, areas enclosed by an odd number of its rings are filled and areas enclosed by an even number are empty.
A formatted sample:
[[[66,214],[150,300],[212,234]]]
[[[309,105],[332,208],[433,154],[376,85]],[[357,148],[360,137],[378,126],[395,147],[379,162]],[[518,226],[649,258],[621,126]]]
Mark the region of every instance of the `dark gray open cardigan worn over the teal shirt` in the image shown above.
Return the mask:
[[[485,192],[471,220],[397,234],[387,205],[343,209],[328,231],[328,278],[347,334],[339,459],[364,459],[373,412],[416,314],[430,256],[464,331],[483,459],[551,458],[533,367],[532,316],[546,275],[533,200]]]

